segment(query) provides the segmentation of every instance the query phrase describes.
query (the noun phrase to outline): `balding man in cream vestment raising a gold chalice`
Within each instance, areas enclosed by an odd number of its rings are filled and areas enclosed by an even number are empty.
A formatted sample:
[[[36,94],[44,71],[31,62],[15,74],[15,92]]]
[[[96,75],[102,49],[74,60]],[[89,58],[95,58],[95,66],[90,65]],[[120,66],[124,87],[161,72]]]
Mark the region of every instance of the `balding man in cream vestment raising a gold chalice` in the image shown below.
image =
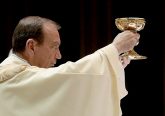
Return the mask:
[[[139,34],[124,31],[93,54],[53,67],[61,58],[58,29],[39,16],[20,20],[13,53],[0,64],[0,115],[121,116],[129,60],[122,65],[119,56],[133,49]]]

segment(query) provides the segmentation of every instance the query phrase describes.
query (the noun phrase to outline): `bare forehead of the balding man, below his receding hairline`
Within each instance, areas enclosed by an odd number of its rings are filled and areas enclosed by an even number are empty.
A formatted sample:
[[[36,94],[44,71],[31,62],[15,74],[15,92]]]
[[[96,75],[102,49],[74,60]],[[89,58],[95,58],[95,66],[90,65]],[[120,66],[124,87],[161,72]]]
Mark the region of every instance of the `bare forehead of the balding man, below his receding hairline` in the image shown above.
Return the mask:
[[[58,43],[58,44],[61,43],[58,27],[55,24],[45,23],[43,25],[43,34],[44,34],[44,41],[51,43]]]

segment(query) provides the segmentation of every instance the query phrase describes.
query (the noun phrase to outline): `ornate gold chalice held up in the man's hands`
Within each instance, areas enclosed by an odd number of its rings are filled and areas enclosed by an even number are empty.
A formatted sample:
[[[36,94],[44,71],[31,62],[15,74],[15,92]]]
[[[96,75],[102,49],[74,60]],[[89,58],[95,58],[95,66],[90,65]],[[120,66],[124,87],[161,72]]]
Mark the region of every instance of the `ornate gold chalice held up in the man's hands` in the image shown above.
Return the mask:
[[[125,17],[125,18],[116,18],[115,19],[116,27],[121,30],[130,30],[133,32],[141,31],[145,26],[145,19],[139,17]],[[139,42],[137,43],[137,45]],[[130,50],[122,55],[128,56],[131,60],[142,60],[146,59],[146,56],[139,55],[135,50]]]

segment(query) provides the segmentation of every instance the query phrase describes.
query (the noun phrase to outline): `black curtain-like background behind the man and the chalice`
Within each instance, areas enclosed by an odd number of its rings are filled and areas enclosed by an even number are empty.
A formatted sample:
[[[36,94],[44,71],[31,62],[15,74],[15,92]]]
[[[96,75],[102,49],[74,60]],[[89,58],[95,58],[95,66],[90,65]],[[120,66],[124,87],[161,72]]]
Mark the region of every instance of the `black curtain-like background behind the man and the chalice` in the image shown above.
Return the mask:
[[[62,26],[63,58],[57,66],[112,42],[120,32],[115,18],[143,17],[146,25],[135,50],[148,59],[131,61],[125,69],[129,94],[121,102],[123,116],[163,116],[164,6],[163,0],[6,0],[0,7],[0,61],[7,57],[12,32],[24,16],[47,17]]]

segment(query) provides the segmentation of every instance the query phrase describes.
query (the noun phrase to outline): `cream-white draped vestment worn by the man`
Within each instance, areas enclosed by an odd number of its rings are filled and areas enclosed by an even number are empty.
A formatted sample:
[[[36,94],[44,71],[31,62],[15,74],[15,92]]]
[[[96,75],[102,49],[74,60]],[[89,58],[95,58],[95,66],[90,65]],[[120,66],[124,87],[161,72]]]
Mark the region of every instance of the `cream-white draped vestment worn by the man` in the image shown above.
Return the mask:
[[[0,116],[121,116],[127,95],[112,44],[53,68],[12,54],[0,64],[0,81]]]

